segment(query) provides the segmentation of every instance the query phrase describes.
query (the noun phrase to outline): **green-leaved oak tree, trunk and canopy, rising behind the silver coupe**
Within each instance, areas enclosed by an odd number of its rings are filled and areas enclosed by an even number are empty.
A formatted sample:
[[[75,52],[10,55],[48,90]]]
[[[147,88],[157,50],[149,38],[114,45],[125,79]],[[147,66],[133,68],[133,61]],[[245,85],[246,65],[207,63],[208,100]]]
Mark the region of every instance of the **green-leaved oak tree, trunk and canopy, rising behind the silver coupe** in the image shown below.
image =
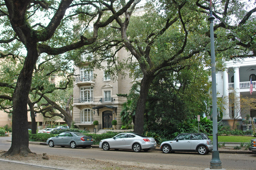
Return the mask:
[[[83,49],[95,66],[108,60],[109,70],[139,65],[143,78],[135,110],[134,132],[143,133],[144,110],[150,84],[164,71],[184,68],[182,61],[204,58],[210,66],[209,2],[206,0],[158,0],[145,6],[143,16],[131,8],[124,17],[106,27],[93,46]],[[216,58],[254,57],[255,4],[239,0],[213,2]],[[116,51],[126,48],[130,57],[122,62]],[[118,65],[118,66],[117,66]],[[115,67],[111,67],[115,66]]]

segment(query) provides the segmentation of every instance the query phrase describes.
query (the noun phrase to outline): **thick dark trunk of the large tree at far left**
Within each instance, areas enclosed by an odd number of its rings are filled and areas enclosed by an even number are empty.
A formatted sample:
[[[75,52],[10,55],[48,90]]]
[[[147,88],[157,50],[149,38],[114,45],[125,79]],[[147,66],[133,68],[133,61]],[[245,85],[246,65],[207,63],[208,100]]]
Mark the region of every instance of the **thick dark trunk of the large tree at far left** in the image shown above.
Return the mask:
[[[20,71],[17,86],[13,93],[13,124],[11,148],[5,155],[23,155],[31,153],[28,148],[28,94],[30,92],[32,73],[37,61],[36,43],[27,45],[27,57]]]

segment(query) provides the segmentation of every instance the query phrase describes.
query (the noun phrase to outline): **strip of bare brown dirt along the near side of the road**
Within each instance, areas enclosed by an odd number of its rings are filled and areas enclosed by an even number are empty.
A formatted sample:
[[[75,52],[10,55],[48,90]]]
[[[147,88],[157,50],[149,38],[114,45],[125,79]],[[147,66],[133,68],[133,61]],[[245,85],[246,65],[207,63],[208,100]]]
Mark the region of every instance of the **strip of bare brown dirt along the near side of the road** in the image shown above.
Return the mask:
[[[30,165],[59,168],[63,170],[204,170],[204,168],[201,167],[191,166],[133,163],[126,161],[116,163],[106,160],[82,159],[77,157],[42,154],[28,154],[28,156],[26,157],[2,156],[0,157],[0,159],[15,161],[19,163],[26,163]]]

